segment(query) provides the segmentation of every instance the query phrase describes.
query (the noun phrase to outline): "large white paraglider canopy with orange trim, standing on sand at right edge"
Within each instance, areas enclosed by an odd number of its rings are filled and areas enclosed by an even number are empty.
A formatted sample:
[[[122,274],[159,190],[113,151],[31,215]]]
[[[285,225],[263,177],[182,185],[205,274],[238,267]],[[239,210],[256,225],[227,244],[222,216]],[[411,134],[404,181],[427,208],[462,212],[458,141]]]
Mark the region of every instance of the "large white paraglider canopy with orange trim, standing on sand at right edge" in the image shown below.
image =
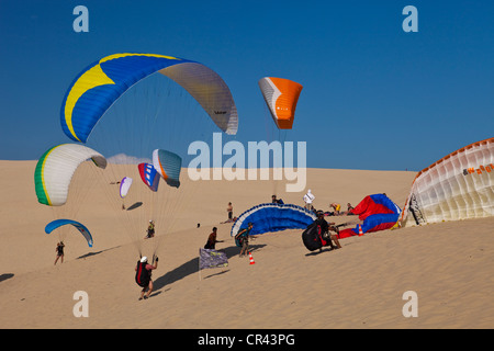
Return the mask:
[[[473,143],[418,172],[402,226],[494,216],[494,138]]]

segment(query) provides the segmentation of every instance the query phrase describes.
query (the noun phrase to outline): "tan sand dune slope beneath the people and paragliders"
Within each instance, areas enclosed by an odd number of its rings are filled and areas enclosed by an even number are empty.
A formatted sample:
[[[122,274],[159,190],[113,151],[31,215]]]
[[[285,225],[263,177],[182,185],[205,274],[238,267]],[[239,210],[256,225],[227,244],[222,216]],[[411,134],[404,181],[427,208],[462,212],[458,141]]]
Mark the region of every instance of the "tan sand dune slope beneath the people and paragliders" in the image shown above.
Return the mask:
[[[402,228],[341,240],[343,249],[310,252],[301,230],[251,241],[255,264],[238,257],[226,204],[235,214],[272,192],[302,204],[272,181],[211,181],[194,193],[172,233],[160,240],[155,293],[137,301],[136,245],[122,235],[100,182],[79,216],[94,247],[67,239],[64,264],[53,265],[56,236],[44,234],[50,208],[36,201],[34,161],[0,161],[0,327],[2,328],[493,328],[494,218]],[[307,170],[316,207],[356,205],[385,192],[403,206],[414,172]],[[338,223],[350,217],[335,217]],[[351,218],[355,220],[355,217]],[[197,223],[201,227],[197,228]],[[198,251],[213,226],[229,258],[225,269],[198,270]],[[75,292],[89,296],[89,317],[76,318]],[[418,317],[405,318],[403,294],[418,296]]]

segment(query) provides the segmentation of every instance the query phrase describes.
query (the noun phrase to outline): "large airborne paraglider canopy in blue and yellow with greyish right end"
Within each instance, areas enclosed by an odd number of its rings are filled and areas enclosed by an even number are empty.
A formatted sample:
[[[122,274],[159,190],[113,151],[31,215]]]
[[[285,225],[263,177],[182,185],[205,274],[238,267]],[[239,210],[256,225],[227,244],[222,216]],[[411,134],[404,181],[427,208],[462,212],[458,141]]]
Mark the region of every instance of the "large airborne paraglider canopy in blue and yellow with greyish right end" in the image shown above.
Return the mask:
[[[132,86],[155,72],[186,89],[220,129],[236,134],[237,109],[228,87],[215,71],[192,60],[155,54],[110,55],[83,69],[61,103],[64,133],[86,143],[106,110]]]

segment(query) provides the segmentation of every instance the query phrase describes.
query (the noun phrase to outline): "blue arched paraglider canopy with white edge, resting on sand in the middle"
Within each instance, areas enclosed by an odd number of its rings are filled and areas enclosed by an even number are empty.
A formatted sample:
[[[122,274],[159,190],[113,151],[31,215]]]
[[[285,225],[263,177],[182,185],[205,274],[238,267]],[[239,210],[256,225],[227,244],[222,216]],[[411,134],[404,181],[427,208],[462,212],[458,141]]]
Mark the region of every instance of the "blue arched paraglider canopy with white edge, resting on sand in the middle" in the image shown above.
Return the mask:
[[[305,229],[317,216],[304,207],[291,204],[260,204],[238,216],[232,226],[231,235],[235,236],[240,229],[251,223],[250,235],[280,231],[285,229]]]

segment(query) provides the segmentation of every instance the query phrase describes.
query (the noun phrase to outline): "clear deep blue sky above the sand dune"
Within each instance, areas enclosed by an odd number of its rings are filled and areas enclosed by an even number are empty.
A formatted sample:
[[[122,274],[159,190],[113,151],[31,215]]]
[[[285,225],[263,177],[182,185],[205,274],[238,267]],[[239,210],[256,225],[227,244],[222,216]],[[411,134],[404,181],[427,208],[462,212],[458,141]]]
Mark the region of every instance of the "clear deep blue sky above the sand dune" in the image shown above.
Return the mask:
[[[89,32],[76,33],[76,5]],[[418,32],[405,33],[405,5]],[[0,159],[69,143],[74,77],[106,55],[200,61],[229,86],[237,140],[263,140],[266,76],[304,86],[288,138],[307,166],[420,170],[494,131],[494,2],[0,0]]]

